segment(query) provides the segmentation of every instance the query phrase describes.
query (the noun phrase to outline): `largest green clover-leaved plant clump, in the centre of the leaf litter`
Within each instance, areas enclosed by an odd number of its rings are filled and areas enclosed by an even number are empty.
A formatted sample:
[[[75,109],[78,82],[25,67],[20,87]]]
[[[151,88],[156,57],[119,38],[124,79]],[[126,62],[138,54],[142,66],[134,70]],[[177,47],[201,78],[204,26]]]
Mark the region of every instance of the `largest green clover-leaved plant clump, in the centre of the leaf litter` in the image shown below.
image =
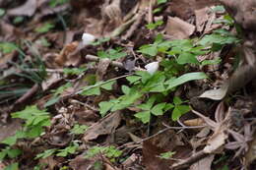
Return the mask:
[[[198,61],[197,56],[221,50],[224,45],[238,43],[239,39],[225,29],[215,30],[212,34],[201,39],[164,40],[161,35],[156,37],[153,44],[143,45],[137,52],[147,58],[155,59],[160,56],[161,61],[158,71],[137,71],[132,75],[122,76],[96,85],[84,87],[79,93],[84,95],[99,95],[100,89],[111,90],[117,79],[125,78],[129,85],[121,85],[123,95],[118,98],[102,101],[99,113],[102,117],[106,114],[122,110],[127,107],[136,107],[140,112],[134,116],[143,123],[149,123],[151,117],[171,113],[171,119],[176,121],[188,111],[187,101],[178,96],[173,96],[173,91],[178,85],[190,81],[207,79],[203,72],[189,72],[191,66],[205,66],[221,63],[221,59]],[[144,101],[135,104],[136,101]]]

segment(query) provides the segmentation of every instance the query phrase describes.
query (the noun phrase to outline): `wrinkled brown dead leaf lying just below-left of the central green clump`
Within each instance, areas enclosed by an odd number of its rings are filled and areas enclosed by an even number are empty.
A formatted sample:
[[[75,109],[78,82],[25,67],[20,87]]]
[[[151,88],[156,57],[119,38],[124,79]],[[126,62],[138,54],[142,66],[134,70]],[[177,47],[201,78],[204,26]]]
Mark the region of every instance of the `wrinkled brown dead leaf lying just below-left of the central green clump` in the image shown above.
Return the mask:
[[[98,121],[86,131],[83,140],[88,142],[96,140],[98,136],[109,135],[119,126],[121,122],[120,112],[116,111]]]

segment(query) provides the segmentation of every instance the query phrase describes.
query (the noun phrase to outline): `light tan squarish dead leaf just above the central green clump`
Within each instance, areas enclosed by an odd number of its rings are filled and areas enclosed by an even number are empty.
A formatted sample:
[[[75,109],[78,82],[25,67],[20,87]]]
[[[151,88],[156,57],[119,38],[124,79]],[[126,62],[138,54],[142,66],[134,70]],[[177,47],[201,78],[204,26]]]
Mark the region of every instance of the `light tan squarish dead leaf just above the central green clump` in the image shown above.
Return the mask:
[[[177,17],[168,17],[165,30],[172,39],[185,39],[194,33],[195,26]]]

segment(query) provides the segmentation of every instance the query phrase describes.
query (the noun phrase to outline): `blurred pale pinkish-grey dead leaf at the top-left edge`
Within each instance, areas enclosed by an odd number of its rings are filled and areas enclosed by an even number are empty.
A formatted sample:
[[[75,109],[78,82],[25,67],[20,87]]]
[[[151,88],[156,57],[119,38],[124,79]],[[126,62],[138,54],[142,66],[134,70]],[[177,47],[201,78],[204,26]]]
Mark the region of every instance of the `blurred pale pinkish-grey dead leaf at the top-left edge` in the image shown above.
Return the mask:
[[[7,14],[10,16],[28,16],[32,17],[36,10],[36,0],[27,0],[27,2],[17,8],[8,10]]]

